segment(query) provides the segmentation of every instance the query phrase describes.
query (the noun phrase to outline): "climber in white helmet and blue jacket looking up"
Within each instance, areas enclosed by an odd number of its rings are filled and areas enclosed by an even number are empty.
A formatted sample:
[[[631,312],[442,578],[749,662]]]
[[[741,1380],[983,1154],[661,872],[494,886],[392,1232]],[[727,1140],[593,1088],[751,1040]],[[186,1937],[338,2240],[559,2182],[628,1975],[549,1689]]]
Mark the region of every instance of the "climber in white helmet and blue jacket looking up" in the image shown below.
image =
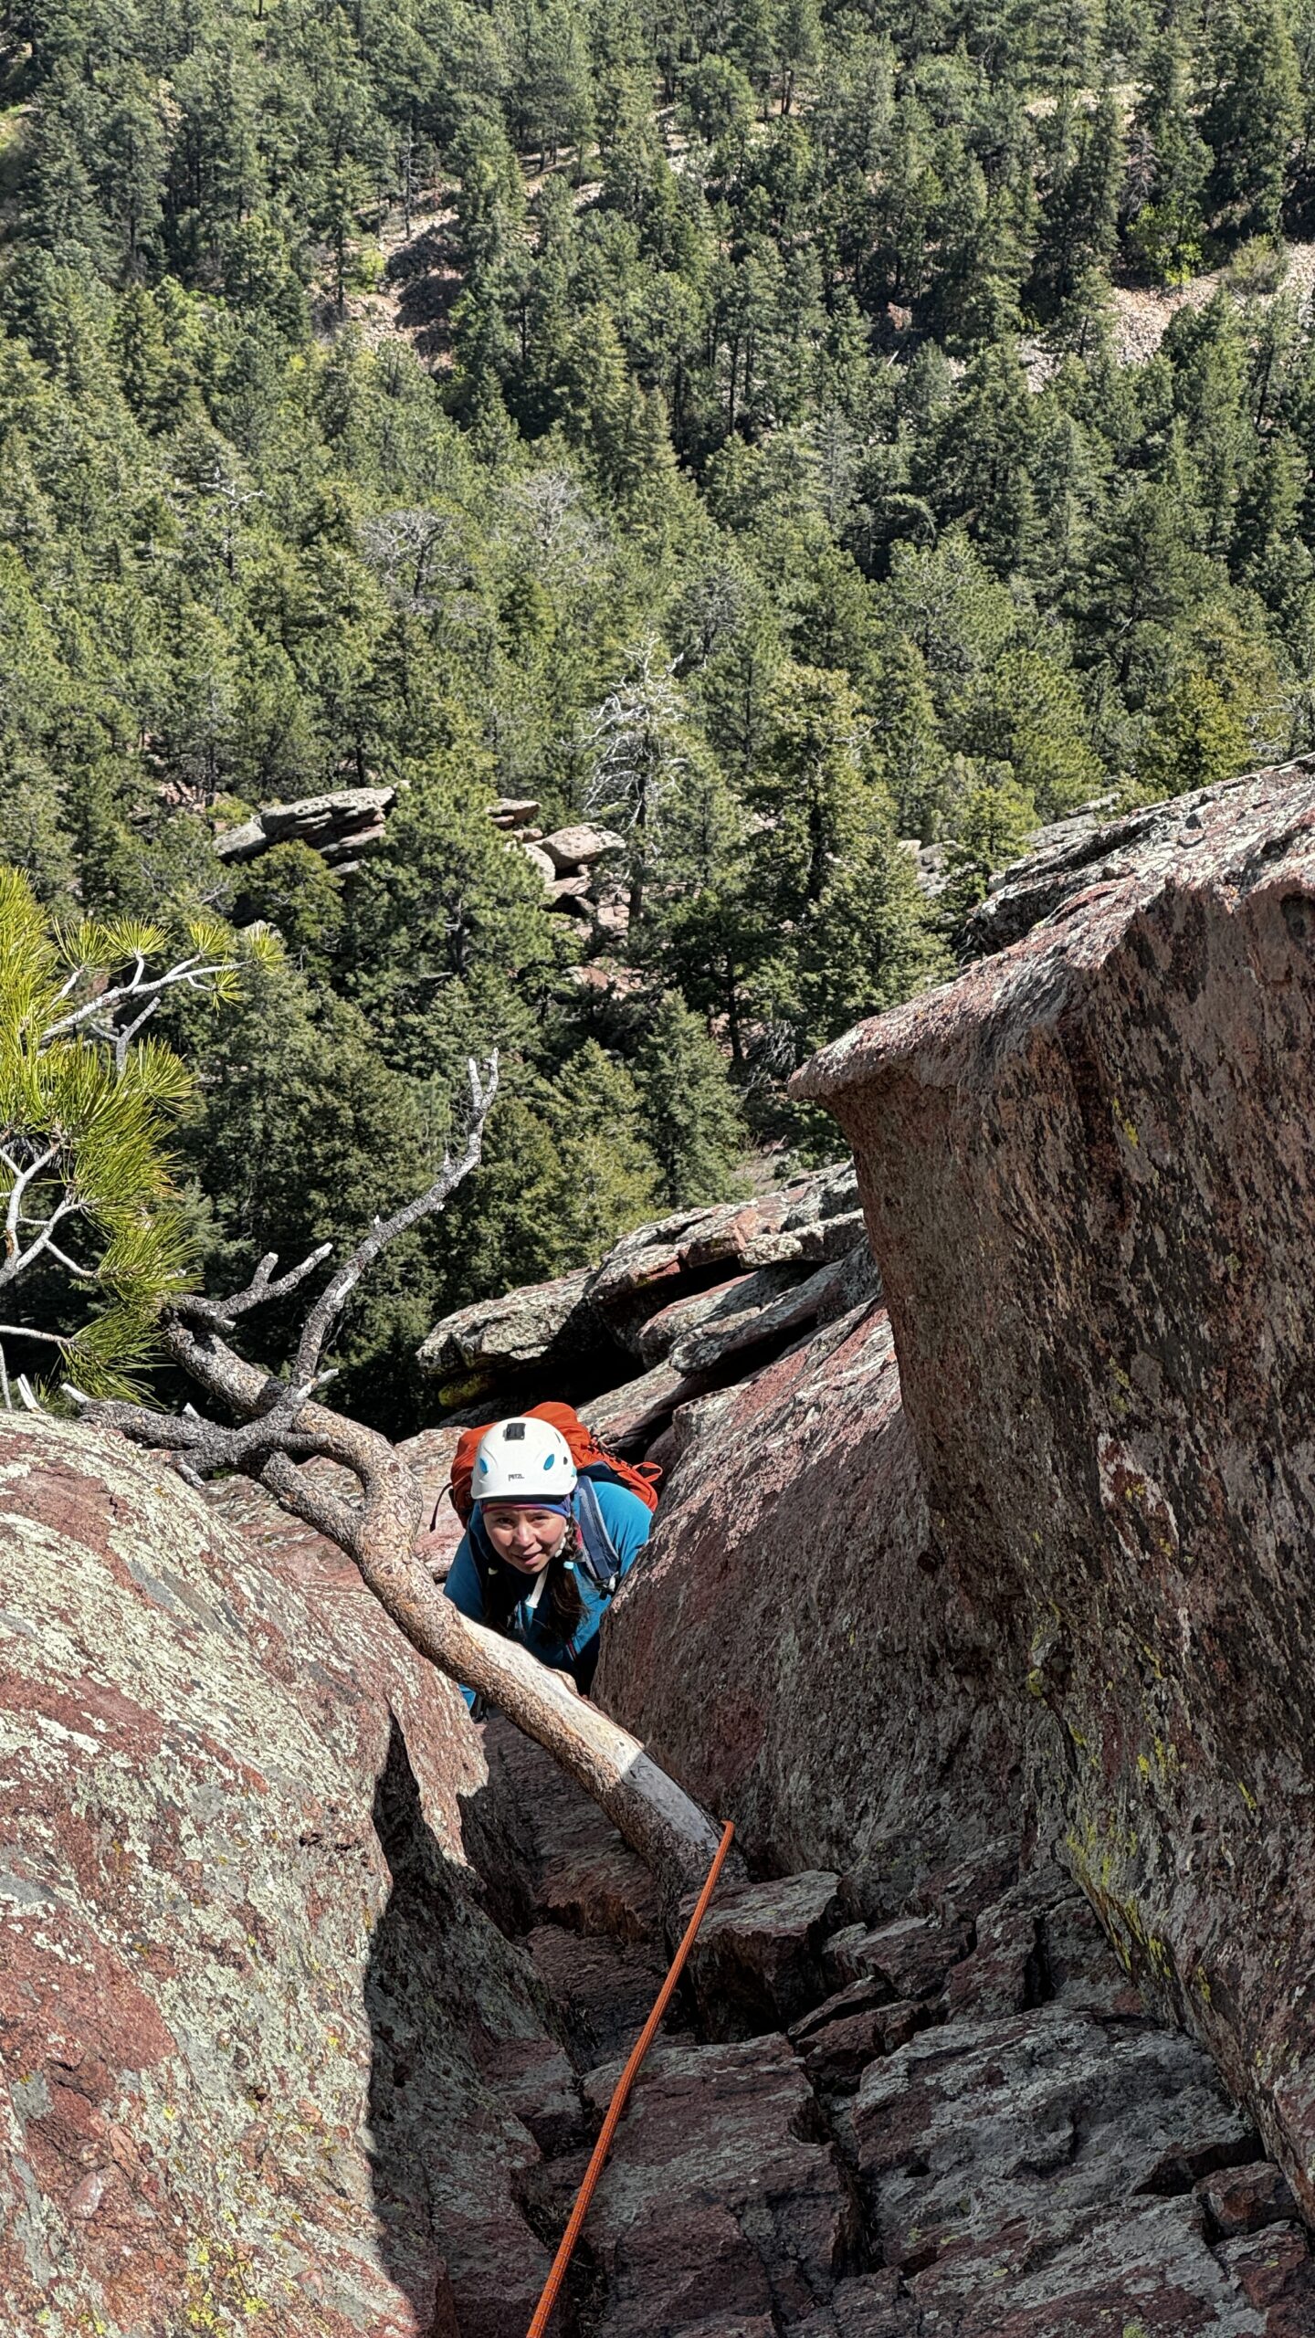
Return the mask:
[[[562,1431],[533,1417],[484,1431],[473,1496],[447,1597],[587,1693],[599,1625],[648,1541],[650,1506],[625,1485],[580,1475]],[[475,1693],[463,1695],[477,1709]]]

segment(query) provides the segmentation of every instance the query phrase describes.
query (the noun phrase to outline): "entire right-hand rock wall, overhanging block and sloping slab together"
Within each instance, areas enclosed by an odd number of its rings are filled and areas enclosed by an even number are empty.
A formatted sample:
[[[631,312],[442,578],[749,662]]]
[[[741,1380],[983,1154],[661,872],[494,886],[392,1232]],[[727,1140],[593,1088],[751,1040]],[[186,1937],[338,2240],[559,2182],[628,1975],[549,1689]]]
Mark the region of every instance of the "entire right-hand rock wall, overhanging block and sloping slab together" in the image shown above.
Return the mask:
[[[994,900],[798,1082],[899,1379],[868,1309],[686,1407],[599,1693],[868,1919],[1058,1842],[1315,2214],[1315,765]]]

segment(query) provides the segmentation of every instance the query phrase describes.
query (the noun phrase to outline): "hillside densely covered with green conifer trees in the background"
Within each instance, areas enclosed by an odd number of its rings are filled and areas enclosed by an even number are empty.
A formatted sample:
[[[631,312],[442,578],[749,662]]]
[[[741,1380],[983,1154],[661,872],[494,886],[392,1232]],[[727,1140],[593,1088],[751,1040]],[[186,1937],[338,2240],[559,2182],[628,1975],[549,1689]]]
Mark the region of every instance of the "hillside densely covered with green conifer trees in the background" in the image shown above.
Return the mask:
[[[1313,0],[2,37],[0,853],[56,921],[283,938],[157,1017],[197,1272],[356,1237],[501,1050],[358,1410],[405,1422],[442,1307],[826,1143],[784,1075],[1037,823],[1315,743]],[[1207,267],[1121,365],[1111,288]],[[215,853],[374,783],[353,874]],[[498,795],[625,837],[622,935],[548,914]]]

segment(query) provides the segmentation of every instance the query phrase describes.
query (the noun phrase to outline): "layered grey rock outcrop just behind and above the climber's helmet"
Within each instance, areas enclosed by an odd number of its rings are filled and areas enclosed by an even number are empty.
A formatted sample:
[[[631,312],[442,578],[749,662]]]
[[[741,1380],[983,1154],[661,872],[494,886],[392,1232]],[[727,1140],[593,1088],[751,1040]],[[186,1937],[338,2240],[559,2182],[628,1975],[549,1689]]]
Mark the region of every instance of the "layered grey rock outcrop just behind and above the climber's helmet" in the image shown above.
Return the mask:
[[[419,1365],[449,1419],[566,1396],[629,1452],[676,1405],[760,1368],[863,1288],[873,1256],[845,1164],[760,1199],[676,1211],[625,1234],[599,1267],[475,1300],[435,1323]]]

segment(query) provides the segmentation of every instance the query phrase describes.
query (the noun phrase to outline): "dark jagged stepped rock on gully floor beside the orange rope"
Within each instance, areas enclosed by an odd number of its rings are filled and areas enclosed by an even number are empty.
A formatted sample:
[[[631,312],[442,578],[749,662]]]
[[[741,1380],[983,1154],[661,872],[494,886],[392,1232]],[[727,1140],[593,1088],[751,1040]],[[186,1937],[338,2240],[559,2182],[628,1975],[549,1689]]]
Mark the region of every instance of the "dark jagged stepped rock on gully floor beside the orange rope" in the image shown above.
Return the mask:
[[[498,1723],[489,1739],[524,1814],[517,1924],[566,2015],[571,2083],[517,2186],[557,2235],[665,1957],[648,1877],[597,1810],[538,1749]],[[1200,2048],[1147,2018],[1072,1884],[1048,1861],[1018,1877],[997,1847],[929,1896],[868,1929],[835,1873],[718,1894],[594,2195],[564,2329],[1313,2329],[1282,2177]]]

